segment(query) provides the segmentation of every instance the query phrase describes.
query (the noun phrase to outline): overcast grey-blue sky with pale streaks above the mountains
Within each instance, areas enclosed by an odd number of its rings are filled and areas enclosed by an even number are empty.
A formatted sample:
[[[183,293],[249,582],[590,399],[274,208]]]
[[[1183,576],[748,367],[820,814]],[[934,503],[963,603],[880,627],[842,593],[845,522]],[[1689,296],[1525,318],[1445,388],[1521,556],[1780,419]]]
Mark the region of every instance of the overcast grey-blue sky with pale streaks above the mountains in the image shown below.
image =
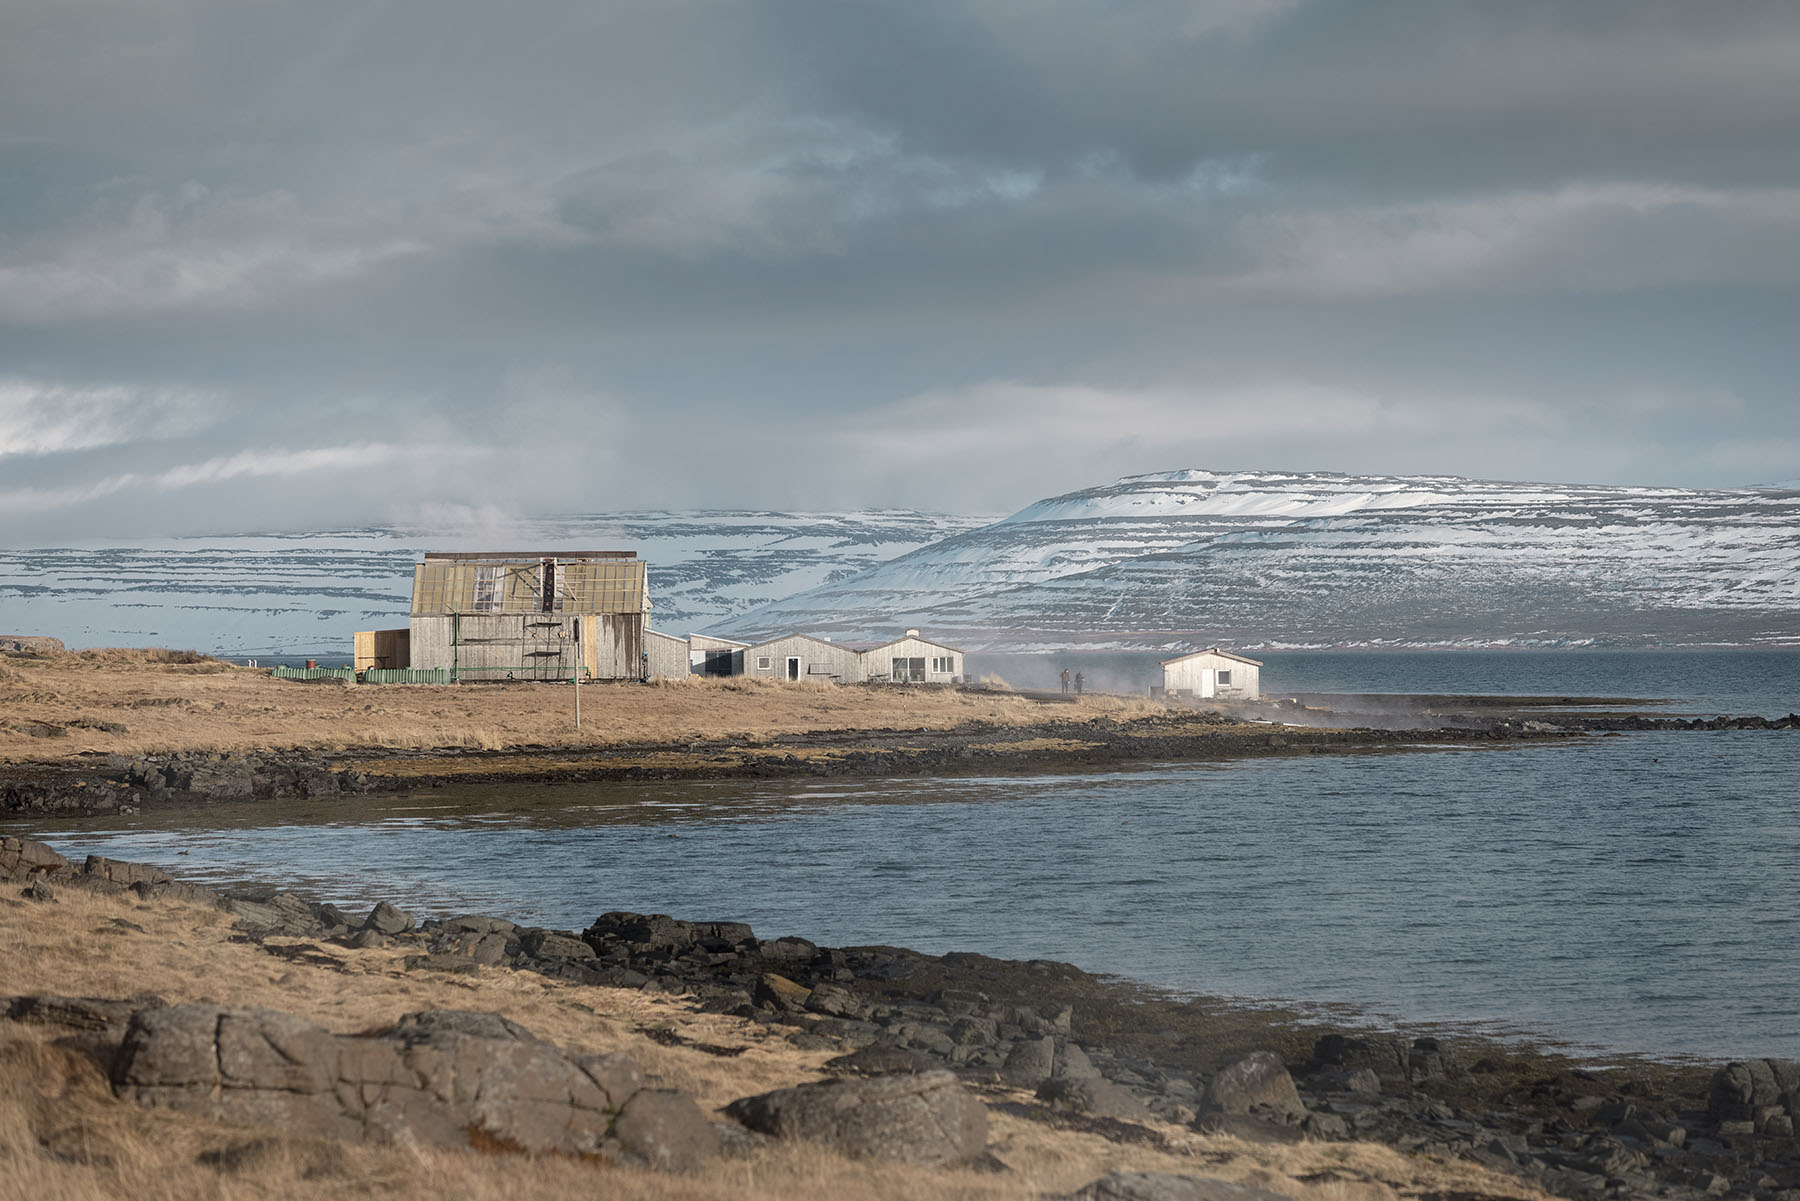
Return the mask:
[[[0,540],[1791,481],[1796,63],[1793,0],[7,0]]]

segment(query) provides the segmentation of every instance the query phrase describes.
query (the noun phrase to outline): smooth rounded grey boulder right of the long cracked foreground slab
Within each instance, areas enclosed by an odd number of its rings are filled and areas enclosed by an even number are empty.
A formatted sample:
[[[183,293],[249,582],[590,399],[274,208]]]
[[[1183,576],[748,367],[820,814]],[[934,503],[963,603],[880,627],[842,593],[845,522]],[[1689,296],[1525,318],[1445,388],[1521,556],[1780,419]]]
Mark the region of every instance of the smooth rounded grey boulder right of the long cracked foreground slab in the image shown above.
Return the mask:
[[[968,1163],[988,1140],[986,1107],[949,1071],[801,1084],[743,1097],[725,1113],[761,1134],[902,1163]]]

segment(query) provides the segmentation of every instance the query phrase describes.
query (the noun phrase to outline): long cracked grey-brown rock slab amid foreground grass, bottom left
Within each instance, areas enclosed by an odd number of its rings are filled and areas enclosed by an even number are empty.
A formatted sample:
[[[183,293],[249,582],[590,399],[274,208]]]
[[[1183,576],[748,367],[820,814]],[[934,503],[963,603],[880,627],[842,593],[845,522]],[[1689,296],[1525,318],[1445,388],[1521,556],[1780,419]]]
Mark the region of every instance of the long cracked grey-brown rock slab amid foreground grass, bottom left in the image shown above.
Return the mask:
[[[499,1017],[409,1014],[335,1035],[265,1008],[139,1010],[113,1062],[130,1100],[290,1134],[605,1156],[693,1169],[718,1133],[626,1055],[567,1055]]]

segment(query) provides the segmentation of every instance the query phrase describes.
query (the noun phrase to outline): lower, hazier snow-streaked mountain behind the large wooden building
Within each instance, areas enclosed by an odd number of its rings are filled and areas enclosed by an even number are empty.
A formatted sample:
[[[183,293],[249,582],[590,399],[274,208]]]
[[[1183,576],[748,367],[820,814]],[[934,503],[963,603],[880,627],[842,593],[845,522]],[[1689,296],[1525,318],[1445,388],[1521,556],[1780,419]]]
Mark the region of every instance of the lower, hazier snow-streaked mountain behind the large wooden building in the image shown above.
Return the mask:
[[[349,654],[355,630],[407,623],[427,549],[632,549],[655,628],[686,634],[985,524],[862,513],[612,513],[470,528],[333,529],[0,549],[0,634],[70,646],[227,655]]]

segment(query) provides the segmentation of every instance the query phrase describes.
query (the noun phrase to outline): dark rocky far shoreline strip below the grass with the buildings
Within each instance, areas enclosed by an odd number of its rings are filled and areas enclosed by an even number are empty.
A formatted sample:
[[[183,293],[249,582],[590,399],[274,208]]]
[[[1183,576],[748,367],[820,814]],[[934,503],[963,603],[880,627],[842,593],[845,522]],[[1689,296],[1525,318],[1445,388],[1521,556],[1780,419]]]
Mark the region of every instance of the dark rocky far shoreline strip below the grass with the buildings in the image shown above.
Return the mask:
[[[1424,713],[1433,724],[1404,727],[1334,726],[1330,713],[1280,702],[1256,708],[1255,724],[1242,720],[1244,715],[1175,709],[1125,720],[977,722],[954,729],[851,729],[607,747],[85,754],[5,767],[0,772],[0,816],[121,814],[144,807],[320,799],[459,783],[952,776],[1381,753],[1445,744],[1508,745],[1625,731],[1800,729],[1800,715],[1773,720],[1672,718],[1507,708],[1492,700],[1469,711]]]

